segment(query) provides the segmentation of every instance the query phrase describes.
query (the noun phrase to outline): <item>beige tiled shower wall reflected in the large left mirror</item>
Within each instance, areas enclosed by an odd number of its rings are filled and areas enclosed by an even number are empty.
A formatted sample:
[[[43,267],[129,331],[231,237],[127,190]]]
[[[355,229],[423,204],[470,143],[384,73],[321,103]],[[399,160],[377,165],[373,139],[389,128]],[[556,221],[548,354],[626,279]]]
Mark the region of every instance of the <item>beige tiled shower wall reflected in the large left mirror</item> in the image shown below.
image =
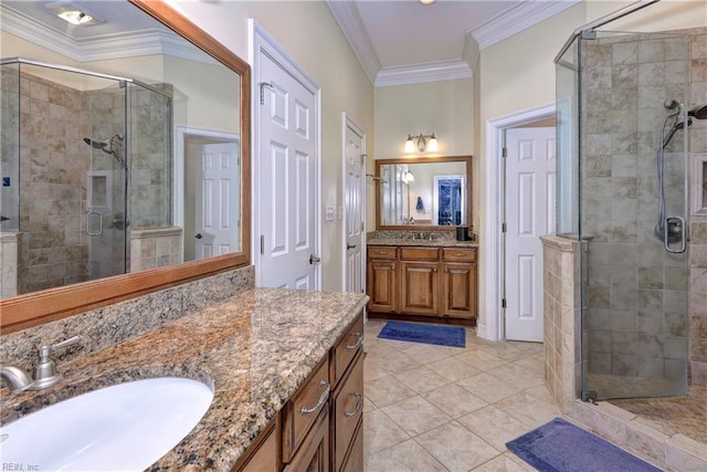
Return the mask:
[[[15,220],[1,229],[17,231],[18,196],[21,229],[17,289],[6,292],[3,286],[3,293],[34,292],[129,271],[122,224],[126,221],[125,170],[113,156],[83,140],[126,135],[125,88],[81,92],[30,73],[19,74],[18,66],[3,66],[0,84],[2,177],[10,177],[10,187],[1,190],[2,214]],[[129,86],[134,203],[128,229],[166,228],[171,223],[171,103],[137,84]],[[169,85],[162,88],[171,92]],[[124,147],[124,158],[127,151]],[[13,168],[18,161],[19,171]],[[110,208],[99,210],[101,238],[86,233],[88,168],[107,171],[113,178]],[[162,260],[180,262],[172,239],[157,241],[161,247],[170,244],[169,258],[160,253],[150,266],[162,265]],[[3,265],[13,264],[3,258]]]

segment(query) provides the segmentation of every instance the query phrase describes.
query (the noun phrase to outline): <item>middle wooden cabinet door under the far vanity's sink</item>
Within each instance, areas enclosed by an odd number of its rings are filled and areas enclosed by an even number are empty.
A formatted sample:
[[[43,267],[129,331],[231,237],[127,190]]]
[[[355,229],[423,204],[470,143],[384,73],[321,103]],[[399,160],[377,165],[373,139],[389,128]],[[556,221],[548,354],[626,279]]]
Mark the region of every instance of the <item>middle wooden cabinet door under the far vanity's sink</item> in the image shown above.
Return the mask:
[[[439,313],[439,264],[436,262],[401,262],[402,313],[436,315]]]

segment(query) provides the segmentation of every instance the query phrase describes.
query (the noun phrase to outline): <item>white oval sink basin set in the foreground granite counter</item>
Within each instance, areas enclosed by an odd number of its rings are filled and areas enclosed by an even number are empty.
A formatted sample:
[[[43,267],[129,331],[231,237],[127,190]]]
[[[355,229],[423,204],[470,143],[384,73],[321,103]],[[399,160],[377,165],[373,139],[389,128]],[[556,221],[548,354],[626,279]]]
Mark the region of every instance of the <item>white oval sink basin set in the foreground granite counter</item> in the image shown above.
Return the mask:
[[[23,470],[143,471],[192,430],[212,400],[211,388],[186,378],[105,387],[2,426],[0,458]]]

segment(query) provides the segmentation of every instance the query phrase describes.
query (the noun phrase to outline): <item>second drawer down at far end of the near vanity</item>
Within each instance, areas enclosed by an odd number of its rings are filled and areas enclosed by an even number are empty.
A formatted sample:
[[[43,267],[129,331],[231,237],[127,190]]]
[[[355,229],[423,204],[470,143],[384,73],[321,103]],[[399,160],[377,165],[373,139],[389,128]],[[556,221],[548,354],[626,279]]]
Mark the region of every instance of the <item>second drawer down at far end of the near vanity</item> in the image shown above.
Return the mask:
[[[335,471],[344,464],[344,459],[352,442],[356,428],[363,415],[363,354],[356,357],[356,363],[346,381],[334,399],[334,457]]]

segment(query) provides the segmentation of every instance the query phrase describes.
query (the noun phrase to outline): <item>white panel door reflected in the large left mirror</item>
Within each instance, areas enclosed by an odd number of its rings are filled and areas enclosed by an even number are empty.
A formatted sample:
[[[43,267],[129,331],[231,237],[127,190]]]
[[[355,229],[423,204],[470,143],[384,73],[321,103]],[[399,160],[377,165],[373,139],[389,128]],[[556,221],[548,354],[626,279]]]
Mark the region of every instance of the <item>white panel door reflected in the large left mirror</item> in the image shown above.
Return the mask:
[[[234,143],[202,146],[197,182],[197,259],[225,254],[239,248],[238,153]]]

